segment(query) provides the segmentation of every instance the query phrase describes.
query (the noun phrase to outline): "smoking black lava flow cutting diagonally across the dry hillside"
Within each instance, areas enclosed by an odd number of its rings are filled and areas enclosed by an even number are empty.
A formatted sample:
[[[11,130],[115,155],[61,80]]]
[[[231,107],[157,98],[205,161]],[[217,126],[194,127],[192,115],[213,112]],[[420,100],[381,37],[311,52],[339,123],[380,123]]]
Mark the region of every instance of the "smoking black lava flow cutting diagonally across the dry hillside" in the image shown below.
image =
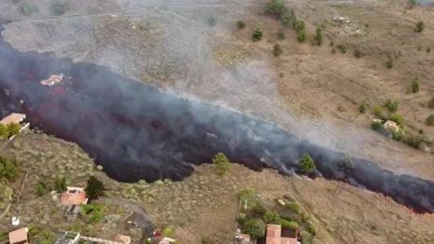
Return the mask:
[[[66,76],[62,83],[39,83],[59,73]],[[217,152],[256,171],[293,174],[298,158],[309,153],[318,175],[434,212],[431,181],[364,159],[344,160],[272,123],[162,93],[106,67],[22,53],[0,41],[0,95],[0,115],[26,113],[34,127],[78,143],[117,180],[181,180],[192,173],[191,164],[210,162]]]

